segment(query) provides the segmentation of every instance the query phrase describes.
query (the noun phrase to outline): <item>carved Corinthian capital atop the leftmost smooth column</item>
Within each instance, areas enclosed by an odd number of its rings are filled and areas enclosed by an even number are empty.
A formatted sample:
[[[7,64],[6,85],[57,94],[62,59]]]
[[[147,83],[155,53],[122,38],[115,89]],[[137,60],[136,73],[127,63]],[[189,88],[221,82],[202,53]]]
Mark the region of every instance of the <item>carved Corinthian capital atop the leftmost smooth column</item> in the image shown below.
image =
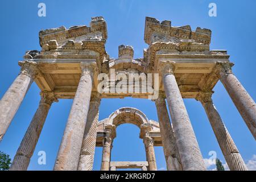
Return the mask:
[[[24,74],[35,79],[40,73],[35,61],[19,61],[18,64],[21,67],[19,74]]]

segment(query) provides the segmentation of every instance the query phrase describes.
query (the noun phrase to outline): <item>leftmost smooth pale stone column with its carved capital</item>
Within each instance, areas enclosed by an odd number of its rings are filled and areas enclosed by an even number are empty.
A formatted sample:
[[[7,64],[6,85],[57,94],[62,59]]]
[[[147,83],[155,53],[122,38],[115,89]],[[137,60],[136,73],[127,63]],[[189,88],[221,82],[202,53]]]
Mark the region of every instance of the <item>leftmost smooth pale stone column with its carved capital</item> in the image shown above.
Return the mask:
[[[19,109],[33,79],[38,74],[38,69],[34,61],[19,62],[19,65],[21,70],[18,77],[16,77],[0,101],[0,142],[13,120],[16,111]]]

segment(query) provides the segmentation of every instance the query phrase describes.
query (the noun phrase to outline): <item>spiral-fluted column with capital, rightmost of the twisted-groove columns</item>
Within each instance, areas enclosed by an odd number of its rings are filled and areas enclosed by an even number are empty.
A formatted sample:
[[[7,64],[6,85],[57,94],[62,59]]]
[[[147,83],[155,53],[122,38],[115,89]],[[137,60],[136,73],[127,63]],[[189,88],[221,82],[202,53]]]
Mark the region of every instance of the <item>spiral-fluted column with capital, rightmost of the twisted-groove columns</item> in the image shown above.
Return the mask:
[[[218,140],[218,144],[220,145],[229,169],[232,171],[246,171],[247,167],[245,162],[243,162],[236,144],[229,135],[228,130],[222,122],[220,114],[218,114],[218,111],[216,110],[216,107],[213,105],[212,93],[213,92],[200,92],[196,100],[199,100],[204,106],[210,125],[212,126],[213,132]]]

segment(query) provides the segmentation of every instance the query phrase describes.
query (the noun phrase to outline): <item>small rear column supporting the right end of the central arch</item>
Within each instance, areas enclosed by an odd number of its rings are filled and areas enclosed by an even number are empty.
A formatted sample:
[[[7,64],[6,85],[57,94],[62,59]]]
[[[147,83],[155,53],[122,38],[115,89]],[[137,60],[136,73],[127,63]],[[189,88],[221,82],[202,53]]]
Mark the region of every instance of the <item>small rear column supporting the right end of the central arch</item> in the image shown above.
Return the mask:
[[[143,143],[146,150],[146,159],[148,162],[149,171],[157,171],[156,160],[155,160],[155,150],[154,150],[154,140],[150,137],[149,133],[146,132]]]

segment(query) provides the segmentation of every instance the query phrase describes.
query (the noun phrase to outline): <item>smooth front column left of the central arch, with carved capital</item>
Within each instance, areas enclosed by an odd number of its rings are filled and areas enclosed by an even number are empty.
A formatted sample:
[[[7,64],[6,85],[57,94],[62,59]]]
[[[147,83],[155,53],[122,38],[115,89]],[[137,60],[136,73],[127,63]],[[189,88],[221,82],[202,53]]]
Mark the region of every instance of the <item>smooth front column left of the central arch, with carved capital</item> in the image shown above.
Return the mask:
[[[76,171],[92,92],[92,63],[81,63],[81,78],[60,144],[54,170]]]

